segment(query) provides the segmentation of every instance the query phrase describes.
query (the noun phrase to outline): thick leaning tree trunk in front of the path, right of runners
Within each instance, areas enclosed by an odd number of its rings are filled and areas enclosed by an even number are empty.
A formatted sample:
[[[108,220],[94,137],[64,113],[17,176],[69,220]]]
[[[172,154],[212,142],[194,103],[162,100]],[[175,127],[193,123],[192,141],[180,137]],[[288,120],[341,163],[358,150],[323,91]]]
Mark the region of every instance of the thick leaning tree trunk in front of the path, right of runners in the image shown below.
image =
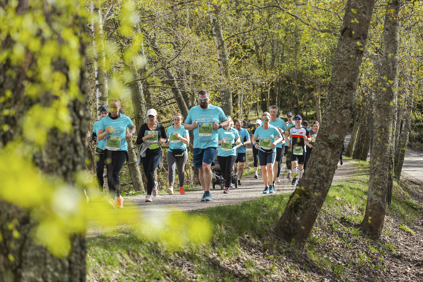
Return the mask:
[[[308,235],[329,192],[341,154],[355,102],[373,7],[374,0],[348,0],[346,4],[316,146],[308,170],[291,194],[275,227],[277,236],[288,243],[293,242],[300,250],[305,248]],[[357,42],[360,44],[357,45]]]

